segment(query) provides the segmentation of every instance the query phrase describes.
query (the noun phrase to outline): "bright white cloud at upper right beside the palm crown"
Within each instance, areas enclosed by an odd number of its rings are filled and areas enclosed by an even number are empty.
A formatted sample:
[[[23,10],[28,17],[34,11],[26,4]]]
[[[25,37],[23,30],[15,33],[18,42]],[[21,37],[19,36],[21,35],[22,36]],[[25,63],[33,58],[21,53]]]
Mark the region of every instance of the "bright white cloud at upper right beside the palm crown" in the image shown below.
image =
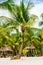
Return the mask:
[[[40,18],[41,13],[43,13],[43,3],[37,4],[35,5],[31,11],[31,14],[35,14]]]

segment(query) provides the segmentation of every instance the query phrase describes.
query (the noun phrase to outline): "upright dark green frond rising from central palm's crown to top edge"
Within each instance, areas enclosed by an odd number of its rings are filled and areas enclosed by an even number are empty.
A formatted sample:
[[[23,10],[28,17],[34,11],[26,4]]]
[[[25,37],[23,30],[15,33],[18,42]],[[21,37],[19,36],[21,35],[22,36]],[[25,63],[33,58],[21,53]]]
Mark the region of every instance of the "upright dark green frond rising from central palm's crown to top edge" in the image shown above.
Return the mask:
[[[28,10],[26,9],[25,5],[24,5],[24,1],[22,0],[21,2],[21,12],[22,12],[22,16],[25,20],[25,22],[27,22],[29,20],[29,16],[28,16]]]

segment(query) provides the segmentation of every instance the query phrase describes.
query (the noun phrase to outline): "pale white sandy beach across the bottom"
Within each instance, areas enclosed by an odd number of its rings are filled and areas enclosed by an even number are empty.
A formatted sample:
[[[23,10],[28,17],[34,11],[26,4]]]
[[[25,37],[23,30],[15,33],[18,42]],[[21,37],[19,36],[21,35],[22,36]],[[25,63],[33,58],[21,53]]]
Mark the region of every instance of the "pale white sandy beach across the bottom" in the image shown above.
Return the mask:
[[[19,60],[0,58],[0,65],[43,65],[43,57],[21,57]]]

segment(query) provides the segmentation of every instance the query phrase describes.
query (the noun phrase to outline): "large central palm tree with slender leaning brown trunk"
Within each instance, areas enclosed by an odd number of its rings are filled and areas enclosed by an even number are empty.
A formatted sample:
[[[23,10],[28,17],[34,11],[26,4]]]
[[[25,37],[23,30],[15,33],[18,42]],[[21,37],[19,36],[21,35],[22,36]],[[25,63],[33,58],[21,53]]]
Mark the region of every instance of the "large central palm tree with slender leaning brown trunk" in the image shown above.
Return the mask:
[[[21,32],[22,32],[22,40],[21,40],[21,46],[19,49],[19,56],[21,56],[23,44],[24,44],[24,32],[27,27],[31,27],[32,24],[37,19],[36,15],[30,15],[29,10],[31,7],[33,7],[32,2],[28,2],[28,5],[24,5],[24,0],[21,1],[20,6],[15,4],[14,2],[11,3],[11,0],[7,0],[6,2],[0,3],[0,7],[4,9],[8,9],[12,15],[12,19],[10,19],[11,22],[9,22],[10,26],[12,28],[20,26]],[[5,17],[7,18],[7,17]],[[9,25],[8,24],[8,25]],[[32,28],[32,27],[31,27]]]

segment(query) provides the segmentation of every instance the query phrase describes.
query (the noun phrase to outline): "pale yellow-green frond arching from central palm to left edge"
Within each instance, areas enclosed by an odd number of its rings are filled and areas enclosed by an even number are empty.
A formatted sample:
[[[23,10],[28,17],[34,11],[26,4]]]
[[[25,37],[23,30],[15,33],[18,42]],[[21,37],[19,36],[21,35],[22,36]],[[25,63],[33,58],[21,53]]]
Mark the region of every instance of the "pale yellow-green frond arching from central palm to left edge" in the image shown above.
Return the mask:
[[[5,31],[13,31],[13,29],[16,29],[18,26],[18,22],[14,21],[11,18],[0,16],[0,27],[5,29]]]

